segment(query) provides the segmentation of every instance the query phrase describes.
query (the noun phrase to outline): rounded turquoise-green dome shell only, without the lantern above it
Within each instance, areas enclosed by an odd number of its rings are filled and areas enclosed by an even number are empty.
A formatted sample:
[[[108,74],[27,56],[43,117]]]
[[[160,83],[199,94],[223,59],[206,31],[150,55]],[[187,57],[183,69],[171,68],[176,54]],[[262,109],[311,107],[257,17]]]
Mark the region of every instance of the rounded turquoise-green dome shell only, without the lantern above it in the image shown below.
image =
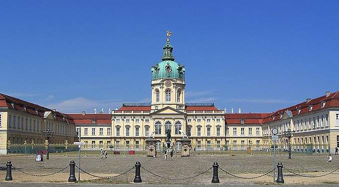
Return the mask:
[[[152,67],[152,79],[184,79],[185,68],[172,60],[164,60]]]

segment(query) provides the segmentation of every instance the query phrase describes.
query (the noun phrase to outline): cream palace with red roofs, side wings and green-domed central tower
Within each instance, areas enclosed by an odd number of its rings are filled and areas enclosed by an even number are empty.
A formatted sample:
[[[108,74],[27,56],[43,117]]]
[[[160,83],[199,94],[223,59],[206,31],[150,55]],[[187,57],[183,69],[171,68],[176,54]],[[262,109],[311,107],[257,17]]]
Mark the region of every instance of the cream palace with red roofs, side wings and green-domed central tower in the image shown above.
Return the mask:
[[[267,150],[271,148],[271,130],[278,128],[278,148],[287,149],[284,131],[294,132],[293,151],[334,152],[339,146],[339,91],[272,113],[226,113],[214,103],[185,102],[186,69],[177,63],[169,43],[163,47],[161,62],[151,68],[151,103],[123,103],[109,114],[65,114],[0,94],[0,154],[6,154],[8,143],[43,143],[43,131],[55,132],[52,143],[87,142],[85,148],[145,150],[145,140],[158,140],[157,150],[170,130],[176,150],[179,139],[187,134],[194,150],[220,149]],[[188,70],[189,72],[189,70]],[[126,149],[125,149],[126,150]]]

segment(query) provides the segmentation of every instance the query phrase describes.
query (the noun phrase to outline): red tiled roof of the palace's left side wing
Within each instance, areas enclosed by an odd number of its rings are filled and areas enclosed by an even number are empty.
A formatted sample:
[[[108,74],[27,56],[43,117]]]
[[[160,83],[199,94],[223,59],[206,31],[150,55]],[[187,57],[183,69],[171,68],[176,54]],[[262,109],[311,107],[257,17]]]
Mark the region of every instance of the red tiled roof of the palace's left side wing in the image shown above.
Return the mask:
[[[11,103],[14,103],[14,107],[12,106]],[[74,124],[73,119],[64,113],[53,111],[52,109],[49,109],[49,108],[31,103],[31,102],[27,102],[27,101],[24,101],[24,100],[21,100],[21,99],[18,99],[18,98],[9,96],[9,95],[5,95],[5,94],[0,94],[0,107],[11,108],[14,110],[26,112],[31,115],[36,115],[40,117],[43,117],[46,111],[50,111],[52,112],[52,114],[55,114],[55,120],[64,122],[64,118],[65,118],[65,120],[67,120],[68,123]],[[24,107],[26,107],[26,110],[24,109]]]

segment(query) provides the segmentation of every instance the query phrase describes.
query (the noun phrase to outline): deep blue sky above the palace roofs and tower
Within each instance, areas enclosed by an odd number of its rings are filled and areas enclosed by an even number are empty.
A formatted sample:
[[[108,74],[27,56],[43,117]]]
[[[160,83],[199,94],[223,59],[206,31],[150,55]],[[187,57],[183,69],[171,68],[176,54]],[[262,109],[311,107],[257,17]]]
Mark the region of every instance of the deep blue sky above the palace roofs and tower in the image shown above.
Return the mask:
[[[0,1],[0,93],[63,112],[149,102],[166,30],[186,101],[271,112],[338,91],[339,1]]]

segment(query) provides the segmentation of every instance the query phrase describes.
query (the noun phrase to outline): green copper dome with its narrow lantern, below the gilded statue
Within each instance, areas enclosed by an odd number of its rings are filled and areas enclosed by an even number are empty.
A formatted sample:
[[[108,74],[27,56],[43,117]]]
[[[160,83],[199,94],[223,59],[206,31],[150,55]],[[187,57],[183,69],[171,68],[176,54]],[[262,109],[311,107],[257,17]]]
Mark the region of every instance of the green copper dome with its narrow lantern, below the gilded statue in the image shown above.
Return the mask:
[[[185,79],[185,68],[174,61],[173,47],[169,44],[169,40],[163,49],[162,62],[152,66],[152,80],[166,78]]]

